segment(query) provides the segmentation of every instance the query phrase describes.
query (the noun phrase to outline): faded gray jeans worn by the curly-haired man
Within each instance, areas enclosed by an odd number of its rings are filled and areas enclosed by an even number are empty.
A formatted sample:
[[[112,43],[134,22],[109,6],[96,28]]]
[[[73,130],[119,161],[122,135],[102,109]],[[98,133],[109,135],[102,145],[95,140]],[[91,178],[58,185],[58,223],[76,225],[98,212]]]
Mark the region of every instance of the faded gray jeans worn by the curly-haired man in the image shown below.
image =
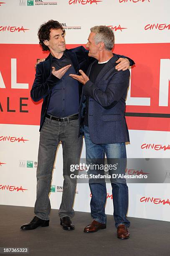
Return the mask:
[[[74,217],[76,179],[69,176],[70,164],[79,164],[82,137],[78,138],[79,120],[58,122],[46,118],[40,132],[37,166],[37,197],[34,212],[42,220],[49,220],[51,204],[49,192],[53,164],[59,142],[63,147],[63,195],[58,215]]]

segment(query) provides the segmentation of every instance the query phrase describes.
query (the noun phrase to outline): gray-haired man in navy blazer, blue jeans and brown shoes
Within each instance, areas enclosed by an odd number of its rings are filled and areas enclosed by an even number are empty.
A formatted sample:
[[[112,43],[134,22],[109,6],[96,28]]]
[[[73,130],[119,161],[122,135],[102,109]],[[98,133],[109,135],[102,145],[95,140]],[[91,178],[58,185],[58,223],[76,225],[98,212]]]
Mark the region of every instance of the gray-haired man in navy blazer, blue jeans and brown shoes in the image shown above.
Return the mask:
[[[106,154],[108,164],[118,163],[117,172],[124,174],[125,142],[129,141],[124,113],[130,72],[129,69],[125,71],[115,69],[118,57],[112,53],[113,46],[114,33],[111,28],[106,26],[91,28],[86,48],[89,49],[89,56],[96,60],[89,66],[87,75],[79,70],[80,76],[75,74],[70,76],[84,84],[79,111],[82,117],[81,123],[84,126],[86,163],[104,164]],[[82,113],[85,115],[83,116]],[[99,171],[99,169],[91,169],[89,174],[96,175]],[[130,222],[126,218],[128,208],[126,179],[112,178],[113,170],[109,170],[109,174],[117,237],[127,239]],[[106,228],[107,221],[104,209],[107,199],[105,180],[102,177],[101,179],[92,177],[89,179],[89,186],[93,221],[84,228],[86,233]]]

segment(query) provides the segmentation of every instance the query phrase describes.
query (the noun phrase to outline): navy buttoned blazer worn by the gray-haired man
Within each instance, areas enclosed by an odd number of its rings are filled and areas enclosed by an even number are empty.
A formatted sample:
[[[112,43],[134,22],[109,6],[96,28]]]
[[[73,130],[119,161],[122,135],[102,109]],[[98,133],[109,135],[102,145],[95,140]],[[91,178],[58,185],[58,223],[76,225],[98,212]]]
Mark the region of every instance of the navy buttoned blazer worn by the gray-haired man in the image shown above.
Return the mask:
[[[124,113],[130,72],[129,69],[126,71],[115,69],[117,65],[115,61],[118,58],[119,56],[114,54],[112,59],[101,69],[95,83],[88,81],[83,86],[80,115],[84,118],[85,96],[83,95],[88,95],[89,134],[91,141],[96,144],[129,141]],[[92,64],[87,70],[87,76],[90,74]]]

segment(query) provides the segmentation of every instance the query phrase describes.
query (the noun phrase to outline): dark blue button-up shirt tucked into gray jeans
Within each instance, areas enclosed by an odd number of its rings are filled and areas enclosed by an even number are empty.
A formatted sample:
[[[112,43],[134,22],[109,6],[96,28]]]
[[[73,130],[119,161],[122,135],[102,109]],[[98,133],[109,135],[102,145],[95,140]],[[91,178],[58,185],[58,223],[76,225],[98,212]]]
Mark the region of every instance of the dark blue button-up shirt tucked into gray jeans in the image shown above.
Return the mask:
[[[71,64],[71,67],[63,75],[59,82],[53,87],[48,105],[47,113],[56,117],[66,117],[79,112],[79,84],[78,81],[69,77],[76,74],[71,59],[64,52],[60,59],[50,56],[52,67],[56,70]]]

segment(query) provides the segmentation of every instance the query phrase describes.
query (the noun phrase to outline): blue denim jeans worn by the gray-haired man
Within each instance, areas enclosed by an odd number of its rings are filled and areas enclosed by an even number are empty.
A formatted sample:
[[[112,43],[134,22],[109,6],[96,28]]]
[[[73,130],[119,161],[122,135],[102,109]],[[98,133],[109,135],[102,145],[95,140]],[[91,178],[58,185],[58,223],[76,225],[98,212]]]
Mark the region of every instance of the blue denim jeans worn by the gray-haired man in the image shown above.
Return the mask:
[[[86,164],[94,163],[104,164],[104,156],[107,156],[107,163],[113,164],[119,159],[119,173],[124,173],[126,168],[126,146],[125,143],[113,144],[94,144],[89,136],[89,127],[84,125],[84,139],[86,143]],[[114,161],[115,159],[115,161]],[[90,170],[89,174],[97,174],[97,170]],[[112,175],[112,171],[109,172]],[[112,195],[114,205],[115,226],[124,224],[129,227],[130,222],[126,218],[128,208],[128,187],[126,179],[111,179]],[[93,182],[89,179],[91,190],[91,217],[100,222],[106,223],[105,204],[107,200],[106,182],[101,179],[99,182]]]

